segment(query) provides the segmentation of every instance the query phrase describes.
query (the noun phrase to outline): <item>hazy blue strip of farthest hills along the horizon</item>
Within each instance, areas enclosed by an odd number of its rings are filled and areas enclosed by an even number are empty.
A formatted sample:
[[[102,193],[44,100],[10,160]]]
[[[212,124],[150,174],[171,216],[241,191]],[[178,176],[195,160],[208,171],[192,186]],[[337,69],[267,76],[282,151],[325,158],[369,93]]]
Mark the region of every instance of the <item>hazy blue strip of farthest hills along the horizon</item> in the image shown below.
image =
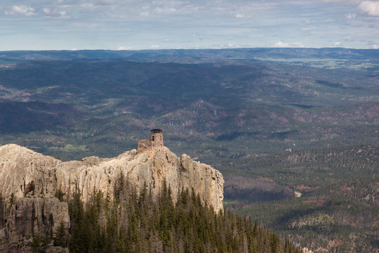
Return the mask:
[[[378,50],[353,48],[232,48],[232,49],[166,49],[143,51],[0,51],[0,59],[12,63],[22,60],[74,60],[128,58],[142,61],[178,63],[218,62],[220,60],[272,60],[298,63],[378,64]],[[331,67],[331,66],[329,66]]]

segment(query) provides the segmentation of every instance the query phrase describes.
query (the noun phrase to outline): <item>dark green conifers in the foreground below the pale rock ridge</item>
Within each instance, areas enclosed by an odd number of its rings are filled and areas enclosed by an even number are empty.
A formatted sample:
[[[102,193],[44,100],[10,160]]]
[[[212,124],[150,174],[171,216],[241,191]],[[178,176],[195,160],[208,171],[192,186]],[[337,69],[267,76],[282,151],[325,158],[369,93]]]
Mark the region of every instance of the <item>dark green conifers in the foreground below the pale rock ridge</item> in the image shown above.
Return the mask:
[[[35,235],[33,251],[44,252],[53,242],[69,252],[301,252],[249,216],[216,214],[189,190],[181,190],[174,204],[173,194],[166,183],[155,199],[147,187],[138,194],[122,176],[114,199],[94,192],[84,203],[79,190],[71,197],[59,191],[55,197],[69,203],[71,226],[60,224],[53,238]],[[1,197],[3,225],[4,204]]]

